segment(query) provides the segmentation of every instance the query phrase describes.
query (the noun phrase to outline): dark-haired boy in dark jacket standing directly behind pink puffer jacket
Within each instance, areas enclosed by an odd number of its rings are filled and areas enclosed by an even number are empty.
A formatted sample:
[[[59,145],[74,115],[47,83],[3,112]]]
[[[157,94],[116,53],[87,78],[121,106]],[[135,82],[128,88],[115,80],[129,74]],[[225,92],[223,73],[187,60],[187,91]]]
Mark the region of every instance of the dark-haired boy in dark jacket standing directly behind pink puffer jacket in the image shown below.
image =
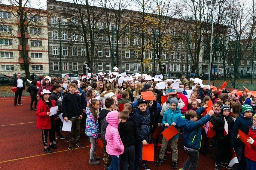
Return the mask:
[[[106,121],[106,116],[114,108],[114,99],[110,98],[110,97],[106,98],[105,107],[106,107],[106,109],[101,110],[99,115],[100,115],[100,123],[101,123],[101,139],[102,139],[103,153],[104,153],[104,158],[103,158],[104,168],[108,169],[108,167],[110,166],[111,161],[110,161],[109,156],[108,156],[107,151],[106,151],[107,141],[105,139],[105,133],[106,133],[106,129],[107,129],[107,126],[108,126],[108,122]]]

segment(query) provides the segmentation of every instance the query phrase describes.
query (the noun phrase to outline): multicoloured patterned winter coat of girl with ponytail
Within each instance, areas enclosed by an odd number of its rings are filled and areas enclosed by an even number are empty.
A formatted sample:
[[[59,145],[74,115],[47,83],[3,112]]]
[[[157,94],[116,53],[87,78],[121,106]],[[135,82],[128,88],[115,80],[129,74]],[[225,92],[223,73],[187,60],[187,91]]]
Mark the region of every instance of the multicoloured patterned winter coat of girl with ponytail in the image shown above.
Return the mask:
[[[90,111],[89,106],[87,106],[85,109],[85,113],[87,115],[85,134],[86,136],[93,136],[93,138],[98,138],[98,132],[99,132],[99,122],[98,122],[99,112],[98,110],[96,110],[96,112],[98,116],[95,121],[93,113]]]

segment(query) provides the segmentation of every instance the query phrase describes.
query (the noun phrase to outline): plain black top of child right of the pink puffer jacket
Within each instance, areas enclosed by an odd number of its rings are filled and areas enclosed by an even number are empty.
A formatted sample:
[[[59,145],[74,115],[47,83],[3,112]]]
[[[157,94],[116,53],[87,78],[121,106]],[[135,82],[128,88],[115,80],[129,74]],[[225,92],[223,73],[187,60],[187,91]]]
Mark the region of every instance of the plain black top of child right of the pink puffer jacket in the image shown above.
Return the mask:
[[[121,141],[125,148],[133,146],[135,143],[134,139],[134,125],[133,122],[126,120],[126,122],[120,122],[118,125],[118,132],[120,134]]]

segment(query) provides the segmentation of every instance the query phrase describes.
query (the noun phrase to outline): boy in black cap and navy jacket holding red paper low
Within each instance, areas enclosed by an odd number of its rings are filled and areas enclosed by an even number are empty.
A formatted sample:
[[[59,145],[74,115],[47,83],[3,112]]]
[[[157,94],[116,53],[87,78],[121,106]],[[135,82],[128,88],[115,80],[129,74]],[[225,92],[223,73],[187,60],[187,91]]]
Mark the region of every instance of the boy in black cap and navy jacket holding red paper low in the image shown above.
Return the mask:
[[[135,132],[135,169],[140,169],[140,160],[142,160],[142,144],[148,145],[148,135],[150,130],[150,113],[147,110],[148,102],[138,100],[138,106],[134,109],[133,122]],[[147,161],[142,160],[142,166],[149,170]]]

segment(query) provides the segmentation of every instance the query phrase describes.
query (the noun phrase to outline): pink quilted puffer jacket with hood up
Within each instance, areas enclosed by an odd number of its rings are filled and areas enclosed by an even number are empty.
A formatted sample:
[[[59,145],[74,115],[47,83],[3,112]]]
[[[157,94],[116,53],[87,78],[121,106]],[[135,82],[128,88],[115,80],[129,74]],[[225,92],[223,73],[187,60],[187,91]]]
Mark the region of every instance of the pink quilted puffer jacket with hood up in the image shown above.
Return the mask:
[[[124,146],[120,139],[118,132],[118,112],[111,111],[107,114],[106,120],[108,122],[108,127],[106,129],[105,139],[107,141],[107,153],[109,155],[120,155],[123,154]]]

